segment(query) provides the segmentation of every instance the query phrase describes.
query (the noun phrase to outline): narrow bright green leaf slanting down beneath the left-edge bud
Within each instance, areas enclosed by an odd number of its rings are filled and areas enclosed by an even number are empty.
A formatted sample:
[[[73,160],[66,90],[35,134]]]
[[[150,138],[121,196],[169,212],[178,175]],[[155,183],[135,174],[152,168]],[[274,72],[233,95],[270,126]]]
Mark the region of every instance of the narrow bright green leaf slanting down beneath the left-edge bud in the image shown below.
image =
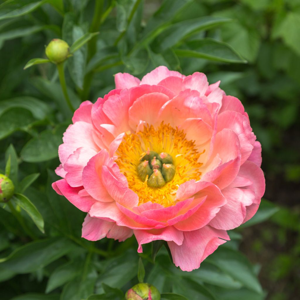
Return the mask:
[[[13,200],[27,212],[38,229],[44,233],[44,219],[35,205],[26,196],[18,193],[14,194]]]

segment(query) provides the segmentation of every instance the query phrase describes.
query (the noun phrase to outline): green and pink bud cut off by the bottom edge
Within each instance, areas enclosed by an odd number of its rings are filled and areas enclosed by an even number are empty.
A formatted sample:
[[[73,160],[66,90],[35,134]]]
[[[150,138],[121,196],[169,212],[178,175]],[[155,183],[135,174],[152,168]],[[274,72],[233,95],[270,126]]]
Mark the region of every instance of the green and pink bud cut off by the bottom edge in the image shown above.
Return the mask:
[[[160,300],[158,289],[149,283],[138,283],[125,294],[125,300]]]

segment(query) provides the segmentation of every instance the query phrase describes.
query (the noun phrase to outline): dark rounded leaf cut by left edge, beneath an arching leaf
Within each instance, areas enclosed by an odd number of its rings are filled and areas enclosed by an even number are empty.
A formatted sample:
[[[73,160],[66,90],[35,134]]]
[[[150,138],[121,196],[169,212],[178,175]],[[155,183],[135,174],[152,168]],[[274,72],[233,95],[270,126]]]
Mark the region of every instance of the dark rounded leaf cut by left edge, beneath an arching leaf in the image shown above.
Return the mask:
[[[0,116],[0,140],[35,122],[32,113],[23,108],[10,108]]]

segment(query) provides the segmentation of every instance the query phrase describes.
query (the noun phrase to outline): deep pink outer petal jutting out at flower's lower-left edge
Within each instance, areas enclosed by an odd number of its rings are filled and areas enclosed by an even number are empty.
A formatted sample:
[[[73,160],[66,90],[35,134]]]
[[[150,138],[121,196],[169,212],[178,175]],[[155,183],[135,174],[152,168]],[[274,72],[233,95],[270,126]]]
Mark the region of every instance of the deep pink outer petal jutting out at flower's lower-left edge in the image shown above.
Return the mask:
[[[82,211],[88,212],[96,202],[91,196],[79,196],[78,192],[82,190],[82,187],[70,187],[65,179],[60,179],[52,183],[52,187],[58,194],[64,195],[73,205]]]

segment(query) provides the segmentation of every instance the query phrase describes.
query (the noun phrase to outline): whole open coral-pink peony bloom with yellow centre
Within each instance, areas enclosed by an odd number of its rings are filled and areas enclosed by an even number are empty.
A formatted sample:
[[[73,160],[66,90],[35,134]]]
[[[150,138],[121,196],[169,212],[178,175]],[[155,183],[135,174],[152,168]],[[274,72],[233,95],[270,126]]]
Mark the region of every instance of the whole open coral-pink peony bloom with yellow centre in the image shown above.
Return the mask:
[[[87,212],[82,237],[142,245],[165,240],[184,271],[229,240],[226,230],[256,213],[265,191],[261,145],[241,102],[208,84],[158,67],[140,81],[83,102],[58,153],[52,184]]]

